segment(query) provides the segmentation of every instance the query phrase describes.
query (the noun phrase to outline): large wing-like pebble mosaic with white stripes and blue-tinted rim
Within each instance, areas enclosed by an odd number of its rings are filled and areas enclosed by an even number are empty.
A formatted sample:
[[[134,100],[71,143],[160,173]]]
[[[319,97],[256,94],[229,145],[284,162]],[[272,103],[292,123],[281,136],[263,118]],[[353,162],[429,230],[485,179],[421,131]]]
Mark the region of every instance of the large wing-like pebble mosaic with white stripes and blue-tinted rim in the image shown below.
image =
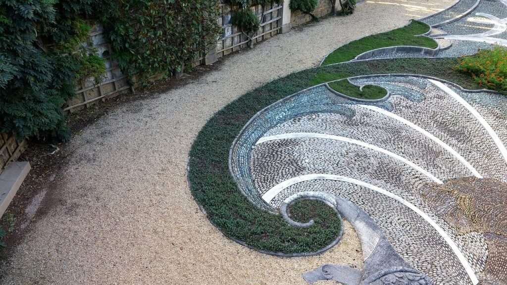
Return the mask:
[[[231,149],[240,190],[273,212],[305,191],[343,197],[435,283],[477,283],[493,248],[490,239],[479,231],[459,232],[428,205],[421,189],[455,177],[506,181],[507,102],[433,79],[351,81],[382,86],[391,96],[365,103],[317,86],[269,106]]]

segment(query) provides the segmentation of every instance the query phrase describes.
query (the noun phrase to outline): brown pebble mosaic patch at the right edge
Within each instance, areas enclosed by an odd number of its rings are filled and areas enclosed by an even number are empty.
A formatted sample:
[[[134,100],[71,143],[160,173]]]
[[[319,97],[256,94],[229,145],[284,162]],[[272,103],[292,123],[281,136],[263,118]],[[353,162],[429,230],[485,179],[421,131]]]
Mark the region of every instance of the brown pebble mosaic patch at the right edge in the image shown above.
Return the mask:
[[[457,231],[484,234],[489,252],[484,284],[507,284],[507,184],[466,177],[421,191],[428,206]]]

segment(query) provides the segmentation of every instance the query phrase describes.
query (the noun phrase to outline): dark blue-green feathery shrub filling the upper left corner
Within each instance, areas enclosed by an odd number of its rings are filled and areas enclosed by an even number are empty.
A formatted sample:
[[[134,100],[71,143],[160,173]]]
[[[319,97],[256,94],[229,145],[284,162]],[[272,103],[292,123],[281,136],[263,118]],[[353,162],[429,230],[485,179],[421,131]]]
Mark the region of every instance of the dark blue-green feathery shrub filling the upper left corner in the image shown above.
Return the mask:
[[[0,132],[68,137],[61,106],[104,63],[81,45],[97,0],[0,0]]]

